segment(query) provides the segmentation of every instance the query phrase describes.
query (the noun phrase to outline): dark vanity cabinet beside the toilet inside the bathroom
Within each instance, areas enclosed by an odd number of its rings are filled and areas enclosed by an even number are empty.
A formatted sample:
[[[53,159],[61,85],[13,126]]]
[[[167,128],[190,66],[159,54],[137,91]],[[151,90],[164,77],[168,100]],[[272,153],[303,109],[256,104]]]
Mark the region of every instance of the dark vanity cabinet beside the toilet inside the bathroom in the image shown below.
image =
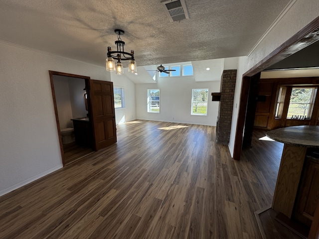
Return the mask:
[[[93,146],[92,125],[88,118],[72,119],[75,143],[84,146]]]

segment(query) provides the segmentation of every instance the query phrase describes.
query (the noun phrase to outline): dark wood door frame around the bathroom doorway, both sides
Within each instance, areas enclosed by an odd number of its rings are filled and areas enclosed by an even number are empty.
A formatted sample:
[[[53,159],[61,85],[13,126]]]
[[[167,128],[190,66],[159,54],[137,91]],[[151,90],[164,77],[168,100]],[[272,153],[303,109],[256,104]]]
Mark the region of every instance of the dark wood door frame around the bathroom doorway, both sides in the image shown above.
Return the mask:
[[[66,76],[66,77],[74,77],[74,78],[80,78],[85,80],[85,88],[89,88],[89,76],[80,76],[80,75],[74,75],[74,74],[69,74],[69,73],[63,73],[63,72],[57,72],[57,71],[49,71],[49,76],[50,76],[50,84],[51,84],[51,91],[52,91],[52,99],[53,99],[53,106],[54,106],[54,113],[55,113],[55,120],[56,120],[56,126],[57,126],[57,131],[58,131],[58,136],[59,136],[59,143],[60,143],[60,151],[61,151],[61,157],[62,157],[62,163],[63,166],[65,166],[65,161],[64,161],[64,152],[63,152],[63,144],[62,144],[62,137],[60,134],[61,128],[60,128],[60,123],[59,123],[59,117],[58,117],[58,109],[56,105],[56,98],[55,98],[55,91],[54,91],[54,83],[53,83],[53,76]],[[90,101],[90,95],[88,94],[88,112],[89,116],[92,119],[92,111],[91,111],[91,101]],[[92,124],[91,124],[92,127]],[[92,128],[93,131],[93,128]],[[93,135],[93,140],[94,135]],[[94,148],[95,150],[95,148]]]

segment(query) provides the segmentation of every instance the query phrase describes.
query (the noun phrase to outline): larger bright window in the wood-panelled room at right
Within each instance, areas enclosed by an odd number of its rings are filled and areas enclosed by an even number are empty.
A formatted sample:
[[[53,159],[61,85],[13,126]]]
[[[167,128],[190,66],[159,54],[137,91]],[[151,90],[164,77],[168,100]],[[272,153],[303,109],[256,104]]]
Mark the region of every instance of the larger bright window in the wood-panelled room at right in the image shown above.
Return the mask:
[[[315,88],[293,87],[287,119],[310,119]]]

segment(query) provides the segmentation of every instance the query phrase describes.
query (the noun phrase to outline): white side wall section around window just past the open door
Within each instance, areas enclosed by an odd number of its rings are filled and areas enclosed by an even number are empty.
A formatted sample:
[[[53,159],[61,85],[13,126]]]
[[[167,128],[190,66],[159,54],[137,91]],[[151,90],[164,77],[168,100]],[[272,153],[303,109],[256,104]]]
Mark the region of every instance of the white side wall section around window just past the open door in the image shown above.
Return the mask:
[[[124,88],[125,108],[115,109],[116,124],[136,119],[135,109],[135,84],[125,75],[117,75],[111,72],[113,87]]]

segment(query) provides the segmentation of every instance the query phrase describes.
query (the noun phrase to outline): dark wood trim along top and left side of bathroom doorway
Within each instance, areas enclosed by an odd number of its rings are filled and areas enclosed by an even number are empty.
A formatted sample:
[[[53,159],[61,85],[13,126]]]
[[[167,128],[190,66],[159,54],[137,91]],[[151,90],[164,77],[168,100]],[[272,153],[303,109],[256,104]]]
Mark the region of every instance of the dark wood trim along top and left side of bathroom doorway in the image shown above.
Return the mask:
[[[49,71],[50,84],[51,84],[51,92],[52,92],[52,99],[53,99],[53,106],[54,106],[56,126],[57,126],[57,131],[58,131],[58,136],[59,136],[59,143],[60,143],[60,151],[61,151],[62,163],[63,163],[63,166],[65,166],[66,162],[65,162],[65,160],[64,160],[62,137],[61,137],[61,135],[60,135],[61,129],[60,129],[60,122],[59,122],[59,117],[58,117],[58,109],[57,109],[57,106],[56,106],[56,98],[55,98],[55,91],[54,91],[53,75],[56,75],[56,76],[67,76],[67,77],[75,77],[75,78],[85,79],[85,85],[87,85],[86,82],[90,79],[90,77],[89,77],[89,76],[80,76],[80,75],[68,74],[68,73],[57,72],[57,71]]]

